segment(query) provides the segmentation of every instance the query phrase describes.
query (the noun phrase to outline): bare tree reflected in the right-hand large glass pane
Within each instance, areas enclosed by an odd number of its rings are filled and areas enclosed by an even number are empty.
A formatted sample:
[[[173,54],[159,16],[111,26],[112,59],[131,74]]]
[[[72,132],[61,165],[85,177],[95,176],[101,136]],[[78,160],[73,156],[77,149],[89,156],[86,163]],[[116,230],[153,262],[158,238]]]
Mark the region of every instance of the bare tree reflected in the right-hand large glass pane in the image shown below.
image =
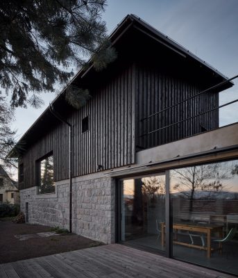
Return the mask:
[[[201,165],[173,170],[173,190],[178,190],[189,199],[189,211],[193,211],[194,195],[197,191],[206,191],[206,198],[220,193],[225,185],[223,179],[230,178],[230,167],[223,163]],[[204,196],[203,196],[204,197]]]

